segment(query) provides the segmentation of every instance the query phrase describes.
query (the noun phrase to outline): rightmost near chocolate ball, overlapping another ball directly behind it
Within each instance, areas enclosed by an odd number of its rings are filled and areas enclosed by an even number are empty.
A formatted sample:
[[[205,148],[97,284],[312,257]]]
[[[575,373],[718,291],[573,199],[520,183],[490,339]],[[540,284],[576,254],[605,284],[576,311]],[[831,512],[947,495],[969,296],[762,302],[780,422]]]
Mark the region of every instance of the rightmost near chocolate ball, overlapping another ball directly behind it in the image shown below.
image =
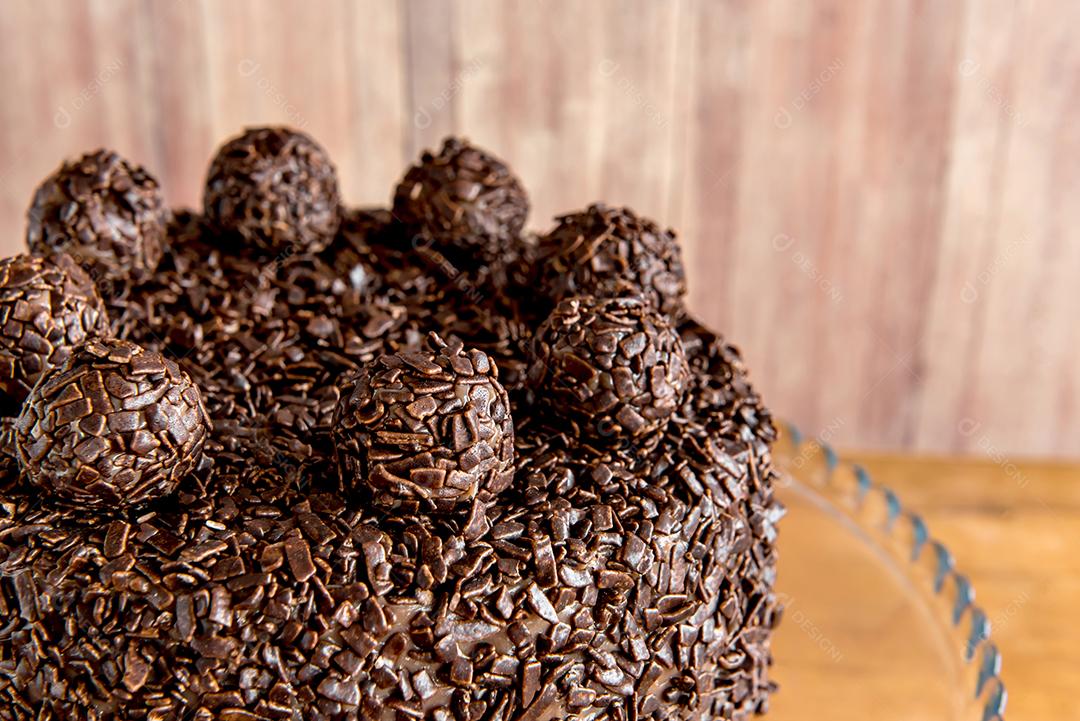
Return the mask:
[[[647,439],[689,384],[678,334],[640,297],[568,298],[532,339],[528,378],[542,403],[591,440]]]

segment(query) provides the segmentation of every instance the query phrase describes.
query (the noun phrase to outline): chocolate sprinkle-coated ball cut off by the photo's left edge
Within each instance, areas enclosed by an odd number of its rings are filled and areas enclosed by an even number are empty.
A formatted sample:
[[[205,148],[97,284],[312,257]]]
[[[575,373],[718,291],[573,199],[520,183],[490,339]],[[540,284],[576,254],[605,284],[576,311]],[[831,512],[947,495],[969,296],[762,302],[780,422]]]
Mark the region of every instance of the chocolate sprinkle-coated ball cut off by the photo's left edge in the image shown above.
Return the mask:
[[[0,260],[0,393],[11,404],[21,405],[71,349],[108,334],[105,303],[70,256]]]

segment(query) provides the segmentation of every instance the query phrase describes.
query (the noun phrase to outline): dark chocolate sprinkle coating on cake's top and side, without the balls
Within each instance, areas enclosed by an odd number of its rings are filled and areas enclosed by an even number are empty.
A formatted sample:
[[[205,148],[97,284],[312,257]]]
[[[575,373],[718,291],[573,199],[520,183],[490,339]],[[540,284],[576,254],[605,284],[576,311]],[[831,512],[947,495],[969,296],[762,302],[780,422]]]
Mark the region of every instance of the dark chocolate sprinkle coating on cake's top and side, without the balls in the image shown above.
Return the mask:
[[[119,337],[183,358],[214,419],[204,459],[168,496],[93,512],[3,472],[0,718],[629,721],[766,708],[782,509],[770,417],[734,349],[680,315],[681,402],[649,443],[600,444],[526,385],[535,268],[521,246],[503,249],[507,272],[418,257],[387,210],[350,210],[324,250],[270,263],[229,251],[217,223],[189,213],[168,237],[158,272],[108,311]],[[445,345],[426,345],[432,331]],[[657,342],[621,339],[605,353],[639,357]],[[340,478],[339,452],[361,457],[336,417],[342,381],[365,371],[407,379],[379,386],[403,421],[384,431],[417,433],[409,407],[440,419],[420,424],[417,448],[474,471],[486,454],[461,458],[484,424],[454,443],[471,396],[453,389],[490,399],[501,385],[509,485],[435,507]],[[400,439],[383,437],[391,457]],[[380,494],[393,502],[370,502]]]

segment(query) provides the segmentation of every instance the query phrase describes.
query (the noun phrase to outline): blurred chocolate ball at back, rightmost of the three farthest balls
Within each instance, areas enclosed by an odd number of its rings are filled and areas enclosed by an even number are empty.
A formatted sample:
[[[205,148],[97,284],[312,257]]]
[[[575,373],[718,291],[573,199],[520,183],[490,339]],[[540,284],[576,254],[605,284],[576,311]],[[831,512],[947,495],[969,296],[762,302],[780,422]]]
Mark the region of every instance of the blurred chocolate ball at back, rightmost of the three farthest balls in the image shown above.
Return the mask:
[[[394,192],[394,217],[442,249],[498,257],[525,226],[529,201],[502,161],[448,138],[437,155],[424,152]]]

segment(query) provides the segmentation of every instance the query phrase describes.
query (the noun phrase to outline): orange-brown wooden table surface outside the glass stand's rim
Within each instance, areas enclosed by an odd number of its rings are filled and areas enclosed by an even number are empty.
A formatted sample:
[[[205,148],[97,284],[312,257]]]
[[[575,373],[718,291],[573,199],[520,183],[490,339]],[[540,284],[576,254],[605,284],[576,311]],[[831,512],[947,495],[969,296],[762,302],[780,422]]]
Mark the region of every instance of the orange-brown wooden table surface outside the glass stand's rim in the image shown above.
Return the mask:
[[[1080,465],[845,457],[920,512],[971,579],[1003,658],[1005,718],[1080,718]]]

